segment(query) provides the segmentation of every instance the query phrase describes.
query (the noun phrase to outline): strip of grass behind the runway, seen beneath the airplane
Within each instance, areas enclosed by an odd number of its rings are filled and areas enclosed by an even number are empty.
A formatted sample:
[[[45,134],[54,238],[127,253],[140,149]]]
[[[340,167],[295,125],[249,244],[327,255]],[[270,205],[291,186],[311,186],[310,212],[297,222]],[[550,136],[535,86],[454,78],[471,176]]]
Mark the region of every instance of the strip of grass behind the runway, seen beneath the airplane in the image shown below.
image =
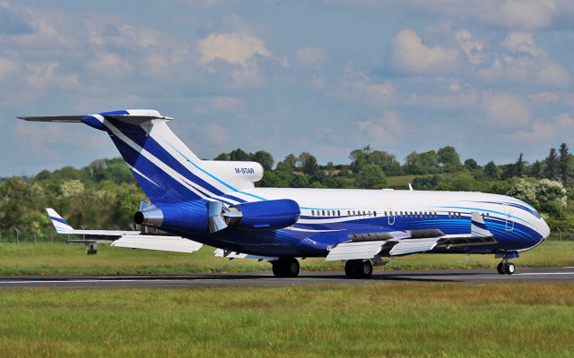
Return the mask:
[[[324,259],[301,260],[311,271],[343,269],[343,263]],[[418,254],[395,258],[377,269],[494,268],[493,255]],[[515,260],[520,267],[574,266],[574,242],[549,241]],[[213,257],[213,248],[194,254],[131,250],[100,245],[97,255],[88,256],[82,245],[64,243],[0,244],[0,275],[106,275],[198,272],[269,271],[271,265],[257,260],[227,260]]]

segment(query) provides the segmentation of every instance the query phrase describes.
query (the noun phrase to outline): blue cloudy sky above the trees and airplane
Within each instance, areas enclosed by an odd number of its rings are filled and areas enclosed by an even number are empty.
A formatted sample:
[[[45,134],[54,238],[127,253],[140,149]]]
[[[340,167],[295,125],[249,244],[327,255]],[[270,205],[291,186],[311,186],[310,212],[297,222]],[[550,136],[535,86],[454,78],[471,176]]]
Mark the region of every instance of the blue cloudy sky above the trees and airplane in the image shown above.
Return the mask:
[[[573,28],[565,0],[0,0],[0,176],[118,156],[16,116],[129,108],[176,118],[200,158],[534,161],[574,147]]]

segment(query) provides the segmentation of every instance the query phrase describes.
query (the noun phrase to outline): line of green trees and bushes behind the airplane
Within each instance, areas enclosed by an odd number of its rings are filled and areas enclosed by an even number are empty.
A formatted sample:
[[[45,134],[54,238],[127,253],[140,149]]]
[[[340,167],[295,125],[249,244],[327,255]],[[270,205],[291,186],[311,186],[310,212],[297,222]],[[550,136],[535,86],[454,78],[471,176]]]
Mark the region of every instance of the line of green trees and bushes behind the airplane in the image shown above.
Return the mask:
[[[457,150],[409,153],[403,163],[367,145],[354,149],[346,164],[328,162],[303,151],[275,163],[265,150],[235,149],[214,160],[257,161],[265,174],[257,186],[296,188],[395,188],[412,183],[415,190],[480,191],[509,194],[544,212],[555,227],[574,227],[567,207],[574,199],[574,156],[562,143],[546,158],[528,163],[519,153],[514,163],[481,166],[464,162]],[[49,226],[44,209],[53,207],[78,228],[127,228],[145,195],[121,158],[98,159],[83,168],[65,166],[30,177],[0,179],[0,229]]]

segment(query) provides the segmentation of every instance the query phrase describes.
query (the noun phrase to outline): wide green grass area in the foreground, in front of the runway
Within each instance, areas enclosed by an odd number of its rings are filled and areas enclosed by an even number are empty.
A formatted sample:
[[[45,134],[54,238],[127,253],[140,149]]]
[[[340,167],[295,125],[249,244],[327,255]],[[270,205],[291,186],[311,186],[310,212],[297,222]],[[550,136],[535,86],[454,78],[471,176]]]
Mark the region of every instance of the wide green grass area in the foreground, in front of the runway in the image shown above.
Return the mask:
[[[2,357],[568,357],[574,286],[9,290]]]

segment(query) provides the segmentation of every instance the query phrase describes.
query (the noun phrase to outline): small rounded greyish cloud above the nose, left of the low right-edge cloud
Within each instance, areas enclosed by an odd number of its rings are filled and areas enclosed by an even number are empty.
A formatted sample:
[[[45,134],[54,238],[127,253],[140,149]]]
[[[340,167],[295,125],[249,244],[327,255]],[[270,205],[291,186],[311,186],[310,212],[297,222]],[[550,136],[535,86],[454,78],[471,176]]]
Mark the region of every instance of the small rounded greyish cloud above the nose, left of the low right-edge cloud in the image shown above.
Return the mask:
[[[521,128],[530,122],[530,108],[522,98],[506,93],[483,93],[483,121],[498,128]]]

